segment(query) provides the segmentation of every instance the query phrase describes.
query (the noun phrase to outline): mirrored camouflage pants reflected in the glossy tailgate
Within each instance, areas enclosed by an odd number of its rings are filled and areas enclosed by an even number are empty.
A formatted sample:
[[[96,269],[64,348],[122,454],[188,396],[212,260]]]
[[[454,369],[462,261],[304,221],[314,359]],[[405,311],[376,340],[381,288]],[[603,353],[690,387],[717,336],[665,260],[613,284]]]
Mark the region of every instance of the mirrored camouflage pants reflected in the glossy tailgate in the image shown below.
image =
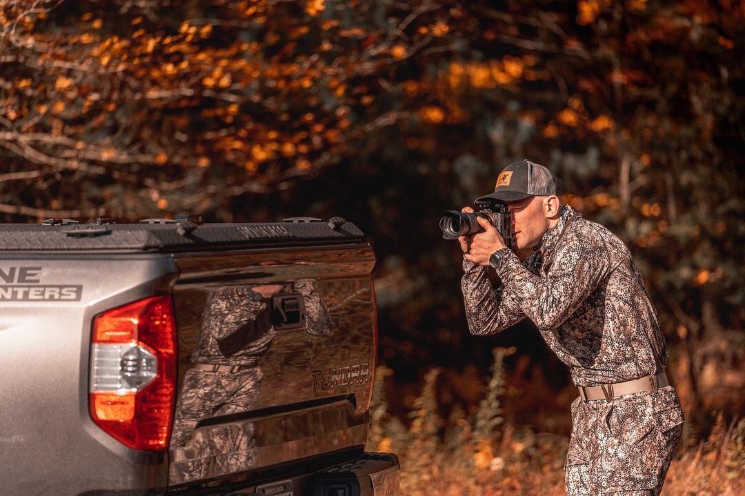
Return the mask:
[[[169,483],[215,477],[251,468],[256,462],[256,438],[250,422],[203,427],[197,422],[212,416],[241,413],[256,406],[261,385],[256,367],[234,374],[186,372],[174,416]]]

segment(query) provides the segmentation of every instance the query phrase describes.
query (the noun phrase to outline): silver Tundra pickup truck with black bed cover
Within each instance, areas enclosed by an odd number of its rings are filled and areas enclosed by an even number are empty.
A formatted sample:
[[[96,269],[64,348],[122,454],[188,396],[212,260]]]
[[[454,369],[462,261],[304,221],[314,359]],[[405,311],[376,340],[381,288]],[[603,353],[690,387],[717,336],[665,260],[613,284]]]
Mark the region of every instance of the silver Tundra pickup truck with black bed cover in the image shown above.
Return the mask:
[[[0,224],[0,494],[396,495],[353,223]]]

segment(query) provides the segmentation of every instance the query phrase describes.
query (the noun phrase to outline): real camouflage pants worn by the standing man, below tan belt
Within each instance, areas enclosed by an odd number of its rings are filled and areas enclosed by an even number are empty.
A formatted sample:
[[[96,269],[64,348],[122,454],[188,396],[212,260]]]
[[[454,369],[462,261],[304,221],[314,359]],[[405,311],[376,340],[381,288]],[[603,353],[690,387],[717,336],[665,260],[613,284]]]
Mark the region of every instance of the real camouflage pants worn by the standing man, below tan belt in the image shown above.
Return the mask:
[[[672,387],[612,401],[574,400],[564,465],[567,496],[656,496],[682,432]]]

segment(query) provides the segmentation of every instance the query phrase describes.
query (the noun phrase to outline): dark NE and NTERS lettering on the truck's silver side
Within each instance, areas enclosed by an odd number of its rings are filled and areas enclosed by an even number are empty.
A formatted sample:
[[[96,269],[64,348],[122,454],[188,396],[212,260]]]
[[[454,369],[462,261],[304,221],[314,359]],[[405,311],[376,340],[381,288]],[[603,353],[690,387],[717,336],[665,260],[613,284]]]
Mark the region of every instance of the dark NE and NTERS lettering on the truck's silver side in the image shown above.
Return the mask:
[[[80,301],[83,286],[40,284],[41,271],[42,267],[0,267],[0,302]]]

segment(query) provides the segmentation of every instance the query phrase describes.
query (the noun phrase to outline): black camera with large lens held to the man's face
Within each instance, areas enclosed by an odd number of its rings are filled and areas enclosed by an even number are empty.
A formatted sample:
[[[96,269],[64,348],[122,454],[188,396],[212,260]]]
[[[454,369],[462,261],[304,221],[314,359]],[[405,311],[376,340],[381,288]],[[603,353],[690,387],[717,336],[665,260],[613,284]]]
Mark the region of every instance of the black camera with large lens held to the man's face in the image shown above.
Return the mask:
[[[484,232],[484,228],[476,220],[482,217],[489,220],[489,223],[504,239],[507,248],[513,249],[515,246],[515,233],[512,229],[513,214],[507,209],[507,205],[497,200],[476,200],[474,203],[475,212],[457,212],[457,210],[448,210],[440,219],[440,229],[443,231],[443,238],[457,239],[459,236],[475,235],[478,232]]]

